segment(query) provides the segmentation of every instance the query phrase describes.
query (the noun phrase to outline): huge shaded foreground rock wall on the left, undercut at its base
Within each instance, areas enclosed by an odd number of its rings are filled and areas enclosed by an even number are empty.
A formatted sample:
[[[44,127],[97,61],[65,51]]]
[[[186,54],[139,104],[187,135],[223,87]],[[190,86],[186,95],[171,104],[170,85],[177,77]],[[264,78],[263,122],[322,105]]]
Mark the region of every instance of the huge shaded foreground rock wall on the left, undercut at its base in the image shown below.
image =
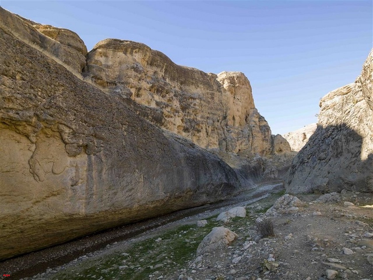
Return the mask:
[[[0,12],[0,259],[252,186],[143,118],[156,114],[79,80],[14,34],[61,53],[79,53],[75,45]]]

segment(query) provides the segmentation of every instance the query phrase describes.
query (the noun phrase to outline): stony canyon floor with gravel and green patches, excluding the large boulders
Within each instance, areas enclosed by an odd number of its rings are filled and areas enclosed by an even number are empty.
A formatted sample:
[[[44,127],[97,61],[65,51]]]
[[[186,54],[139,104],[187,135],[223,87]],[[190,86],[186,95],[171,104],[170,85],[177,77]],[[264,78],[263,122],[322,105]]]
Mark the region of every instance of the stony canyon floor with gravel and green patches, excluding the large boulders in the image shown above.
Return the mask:
[[[347,192],[338,202],[324,203],[314,202],[320,195],[299,195],[303,206],[276,216],[265,212],[283,190],[262,187],[257,194],[256,199],[200,211],[23,279],[310,280],[328,279],[328,272],[329,279],[373,279],[372,194]],[[219,212],[233,206],[245,206],[247,216],[228,224],[216,221]],[[258,217],[273,221],[275,236],[256,239]],[[197,227],[202,219],[207,224]],[[229,228],[238,239],[198,257],[197,246],[216,226]],[[275,260],[267,261],[270,257]]]

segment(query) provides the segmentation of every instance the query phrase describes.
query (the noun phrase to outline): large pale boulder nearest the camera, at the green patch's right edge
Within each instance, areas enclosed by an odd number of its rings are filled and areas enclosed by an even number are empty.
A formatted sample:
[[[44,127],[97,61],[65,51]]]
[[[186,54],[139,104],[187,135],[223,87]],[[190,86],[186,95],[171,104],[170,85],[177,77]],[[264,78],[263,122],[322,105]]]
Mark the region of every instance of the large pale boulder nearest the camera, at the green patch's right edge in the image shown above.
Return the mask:
[[[233,231],[225,227],[214,227],[207,234],[197,248],[197,255],[216,251],[216,249],[226,248],[238,237]]]

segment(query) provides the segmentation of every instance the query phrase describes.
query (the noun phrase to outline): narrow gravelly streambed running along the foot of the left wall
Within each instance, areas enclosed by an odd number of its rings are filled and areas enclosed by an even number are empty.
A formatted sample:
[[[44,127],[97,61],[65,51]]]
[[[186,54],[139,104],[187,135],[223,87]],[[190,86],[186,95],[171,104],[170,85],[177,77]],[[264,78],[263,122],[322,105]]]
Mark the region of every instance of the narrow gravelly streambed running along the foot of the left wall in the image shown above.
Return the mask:
[[[204,205],[191,209],[184,209],[153,219],[123,225],[122,227],[106,230],[101,233],[85,236],[67,243],[52,246],[40,251],[28,253],[16,258],[0,262],[0,279],[21,279],[37,273],[52,269],[73,261],[80,256],[106,248],[115,242],[122,242],[134,237],[140,239],[147,235],[162,232],[165,229],[177,227],[181,224],[192,223],[204,217],[225,211],[232,206],[241,206],[254,203],[282,190],[282,184],[265,184],[257,189],[248,190],[239,196],[211,205]],[[10,277],[3,277],[10,274]]]

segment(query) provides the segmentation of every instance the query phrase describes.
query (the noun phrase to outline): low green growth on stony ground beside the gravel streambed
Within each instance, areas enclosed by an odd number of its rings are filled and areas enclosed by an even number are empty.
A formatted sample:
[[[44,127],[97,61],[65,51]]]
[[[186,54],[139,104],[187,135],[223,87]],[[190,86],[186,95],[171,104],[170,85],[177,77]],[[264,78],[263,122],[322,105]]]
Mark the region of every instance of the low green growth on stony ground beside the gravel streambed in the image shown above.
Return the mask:
[[[216,215],[209,217],[207,225],[197,227],[195,224],[181,225],[168,230],[157,237],[149,238],[133,244],[125,251],[96,259],[86,260],[68,269],[56,273],[52,279],[149,279],[149,274],[156,276],[174,273],[187,266],[188,261],[196,258],[196,251],[202,239],[213,227],[222,226],[216,221]],[[233,218],[225,227],[246,237],[243,224],[251,226],[253,218]],[[162,240],[159,240],[161,238]],[[156,279],[157,277],[154,277]]]

